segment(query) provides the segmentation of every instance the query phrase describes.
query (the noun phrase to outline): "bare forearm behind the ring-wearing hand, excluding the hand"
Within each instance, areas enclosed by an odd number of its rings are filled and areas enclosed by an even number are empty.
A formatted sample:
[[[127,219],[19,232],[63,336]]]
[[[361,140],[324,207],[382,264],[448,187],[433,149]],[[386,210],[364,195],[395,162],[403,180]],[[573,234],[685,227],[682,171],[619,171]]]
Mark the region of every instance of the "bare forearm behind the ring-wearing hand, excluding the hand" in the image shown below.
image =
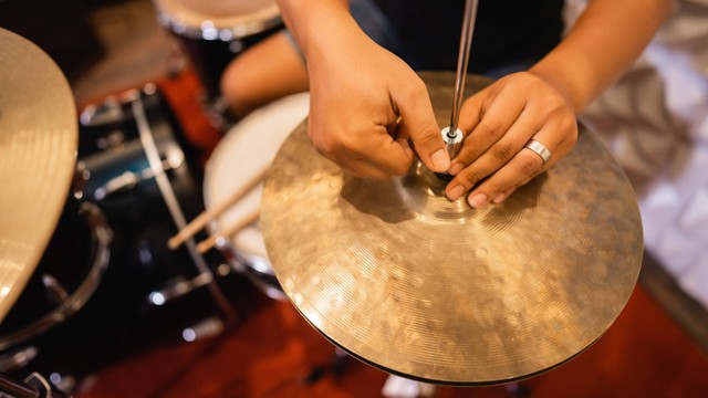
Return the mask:
[[[673,6],[674,0],[592,0],[531,71],[563,87],[580,112],[634,63]]]

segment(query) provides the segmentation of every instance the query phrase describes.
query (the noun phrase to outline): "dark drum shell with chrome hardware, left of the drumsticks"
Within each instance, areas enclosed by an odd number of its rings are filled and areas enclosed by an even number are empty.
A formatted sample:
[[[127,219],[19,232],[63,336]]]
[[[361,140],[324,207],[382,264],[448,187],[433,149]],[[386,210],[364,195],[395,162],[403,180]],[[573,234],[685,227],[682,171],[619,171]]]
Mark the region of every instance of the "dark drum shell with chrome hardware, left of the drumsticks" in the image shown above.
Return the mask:
[[[135,114],[136,108],[144,114]],[[140,123],[162,160],[169,192],[157,184]],[[123,317],[148,311],[146,300],[152,292],[201,272],[184,245],[177,250],[167,247],[180,218],[190,220],[204,211],[200,156],[153,84],[106,98],[82,113],[81,195],[105,212],[114,230],[111,289],[122,294],[123,303],[116,311]],[[174,195],[177,209],[168,207],[166,193]],[[215,266],[221,261],[214,253],[206,258]]]

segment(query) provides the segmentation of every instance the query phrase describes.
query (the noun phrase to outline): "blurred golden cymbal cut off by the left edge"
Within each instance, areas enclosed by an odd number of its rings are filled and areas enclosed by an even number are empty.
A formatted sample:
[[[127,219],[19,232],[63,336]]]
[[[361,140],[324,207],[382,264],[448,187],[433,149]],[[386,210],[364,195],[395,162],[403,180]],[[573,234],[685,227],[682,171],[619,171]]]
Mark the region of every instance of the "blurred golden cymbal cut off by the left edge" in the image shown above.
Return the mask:
[[[69,195],[79,127],[59,66],[0,28],[0,321],[34,272]]]

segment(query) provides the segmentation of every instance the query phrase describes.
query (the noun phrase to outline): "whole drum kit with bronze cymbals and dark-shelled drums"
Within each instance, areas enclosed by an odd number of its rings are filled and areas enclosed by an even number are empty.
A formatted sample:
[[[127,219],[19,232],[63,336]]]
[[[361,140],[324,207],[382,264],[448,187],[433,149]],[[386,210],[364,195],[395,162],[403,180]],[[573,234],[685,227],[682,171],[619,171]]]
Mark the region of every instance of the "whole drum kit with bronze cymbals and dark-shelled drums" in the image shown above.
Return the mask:
[[[244,38],[277,19],[267,1],[241,6],[249,9],[240,14],[259,15],[248,23],[204,23],[183,8],[200,9],[198,1],[155,3],[165,23],[188,40]],[[235,3],[202,11],[223,14],[220,7]],[[243,28],[228,33],[225,25]],[[420,76],[442,125],[459,76]],[[0,349],[81,310],[119,232],[155,213],[146,198],[163,211],[158,218],[173,239],[189,230],[188,219],[201,219],[199,228],[216,237],[214,248],[231,270],[292,303],[337,349],[434,384],[511,383],[566,363],[611,327],[638,277],[643,237],[634,192],[583,126],[574,149],[552,169],[503,203],[475,210],[464,199],[448,200],[444,179],[419,163],[385,181],[343,174],[308,139],[308,93],[239,121],[202,176],[154,86],[87,108],[80,127],[56,65],[4,30],[0,80]],[[468,76],[459,88],[469,96],[489,83]],[[185,202],[197,205],[187,210]],[[122,216],[134,207],[140,211]],[[121,218],[124,226],[115,221]],[[165,234],[139,241],[163,250]],[[217,273],[204,256],[215,250],[197,249],[195,237],[170,245],[184,243],[186,251],[175,255],[197,271],[187,291],[214,286]],[[85,264],[79,281],[44,262],[56,255],[52,245],[81,254],[61,259],[64,268]],[[143,249],[135,255],[145,268],[156,252]],[[155,292],[165,297],[174,290]],[[212,294],[222,298],[218,290]],[[33,295],[51,297],[49,310],[40,313]]]

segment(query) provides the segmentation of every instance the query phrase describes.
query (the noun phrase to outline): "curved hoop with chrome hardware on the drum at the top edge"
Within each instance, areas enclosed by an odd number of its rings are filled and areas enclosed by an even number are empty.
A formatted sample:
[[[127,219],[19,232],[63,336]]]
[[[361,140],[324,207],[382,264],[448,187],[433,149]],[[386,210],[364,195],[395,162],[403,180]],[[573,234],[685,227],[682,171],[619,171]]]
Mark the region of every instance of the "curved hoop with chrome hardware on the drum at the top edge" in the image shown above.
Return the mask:
[[[162,1],[156,0],[156,4]],[[188,39],[231,41],[273,29],[282,23],[277,4],[248,15],[198,15],[180,4],[173,10],[158,10],[158,22],[175,34]]]

